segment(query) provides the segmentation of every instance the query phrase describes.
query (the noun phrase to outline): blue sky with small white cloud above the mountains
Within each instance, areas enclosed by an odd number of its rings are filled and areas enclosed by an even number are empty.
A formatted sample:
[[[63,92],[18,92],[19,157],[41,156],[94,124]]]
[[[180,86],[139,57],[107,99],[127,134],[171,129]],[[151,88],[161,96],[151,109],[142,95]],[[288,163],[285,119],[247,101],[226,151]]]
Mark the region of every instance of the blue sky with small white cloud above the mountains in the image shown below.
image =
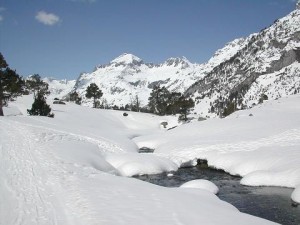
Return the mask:
[[[1,0],[0,52],[22,76],[76,79],[122,53],[206,62],[295,0]]]

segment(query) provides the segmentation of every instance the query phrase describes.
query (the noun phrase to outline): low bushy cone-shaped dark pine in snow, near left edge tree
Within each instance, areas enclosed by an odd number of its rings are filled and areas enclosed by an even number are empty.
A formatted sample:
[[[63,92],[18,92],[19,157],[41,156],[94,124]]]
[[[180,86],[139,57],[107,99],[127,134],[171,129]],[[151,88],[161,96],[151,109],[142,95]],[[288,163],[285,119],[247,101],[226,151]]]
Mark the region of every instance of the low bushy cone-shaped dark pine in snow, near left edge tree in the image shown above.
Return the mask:
[[[27,112],[31,116],[48,116],[54,117],[51,113],[50,106],[46,103],[46,97],[43,92],[38,92],[34,98],[31,109],[27,109]]]

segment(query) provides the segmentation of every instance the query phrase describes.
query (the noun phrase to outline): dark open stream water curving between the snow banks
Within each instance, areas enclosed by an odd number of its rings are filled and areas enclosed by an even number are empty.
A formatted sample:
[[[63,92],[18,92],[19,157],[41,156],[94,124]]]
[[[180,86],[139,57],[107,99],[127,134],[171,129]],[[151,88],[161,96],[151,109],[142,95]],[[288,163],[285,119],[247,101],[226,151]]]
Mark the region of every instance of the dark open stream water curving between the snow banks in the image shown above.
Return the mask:
[[[265,218],[284,225],[300,225],[300,206],[293,206],[290,196],[293,189],[280,187],[248,187],[240,185],[240,177],[209,168],[181,168],[157,175],[136,178],[165,187],[178,187],[195,179],[206,179],[219,187],[220,199],[231,203],[241,212]]]

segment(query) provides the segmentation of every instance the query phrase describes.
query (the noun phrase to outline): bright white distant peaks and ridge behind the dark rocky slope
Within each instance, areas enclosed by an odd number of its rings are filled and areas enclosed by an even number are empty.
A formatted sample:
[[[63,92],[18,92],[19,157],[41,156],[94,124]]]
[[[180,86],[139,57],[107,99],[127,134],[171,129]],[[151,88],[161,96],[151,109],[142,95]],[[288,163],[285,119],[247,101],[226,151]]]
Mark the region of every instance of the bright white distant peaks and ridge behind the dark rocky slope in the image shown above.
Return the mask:
[[[161,85],[170,91],[185,92],[193,83],[208,74],[212,69],[229,59],[243,46],[244,39],[228,43],[205,64],[191,63],[185,57],[169,58],[154,65],[145,63],[139,57],[124,53],[106,65],[98,65],[92,73],[82,73],[76,80],[66,82],[45,79],[51,88],[51,96],[64,98],[76,90],[83,98],[83,104],[91,105],[85,98],[86,88],[96,83],[110,106],[131,104],[136,96],[141,105],[148,104],[150,92],[155,85]]]

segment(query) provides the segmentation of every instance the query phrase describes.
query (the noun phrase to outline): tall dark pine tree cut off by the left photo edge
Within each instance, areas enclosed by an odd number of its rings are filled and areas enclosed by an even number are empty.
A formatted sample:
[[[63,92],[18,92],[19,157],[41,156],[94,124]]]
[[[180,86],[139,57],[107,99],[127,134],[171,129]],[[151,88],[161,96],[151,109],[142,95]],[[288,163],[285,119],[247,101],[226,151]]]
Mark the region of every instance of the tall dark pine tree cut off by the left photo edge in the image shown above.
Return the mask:
[[[3,55],[0,53],[0,116],[3,116],[3,102],[23,93],[24,81],[8,67]]]

